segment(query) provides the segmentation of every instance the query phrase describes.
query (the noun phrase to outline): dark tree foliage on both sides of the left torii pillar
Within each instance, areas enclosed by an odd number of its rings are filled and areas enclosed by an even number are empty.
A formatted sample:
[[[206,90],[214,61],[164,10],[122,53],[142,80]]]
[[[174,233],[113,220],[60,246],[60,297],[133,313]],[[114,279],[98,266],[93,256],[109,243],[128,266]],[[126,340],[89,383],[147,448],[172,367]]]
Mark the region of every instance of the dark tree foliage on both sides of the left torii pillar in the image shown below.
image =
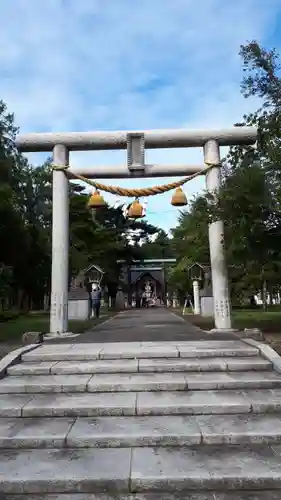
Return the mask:
[[[34,168],[15,147],[17,132],[13,114],[0,101],[0,301],[2,307],[41,308],[50,293],[52,158]],[[69,196],[69,281],[98,264],[114,294],[118,261],[146,256],[158,229],[146,221],[129,221],[121,207],[90,212],[85,187],[79,184],[70,183]]]

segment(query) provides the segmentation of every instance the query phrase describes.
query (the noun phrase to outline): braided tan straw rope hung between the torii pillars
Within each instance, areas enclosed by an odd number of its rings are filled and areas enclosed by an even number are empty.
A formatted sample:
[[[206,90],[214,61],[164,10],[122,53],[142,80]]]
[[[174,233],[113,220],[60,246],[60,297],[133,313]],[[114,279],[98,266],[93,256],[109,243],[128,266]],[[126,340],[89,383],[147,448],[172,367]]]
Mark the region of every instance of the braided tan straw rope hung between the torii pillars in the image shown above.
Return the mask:
[[[170,182],[169,184],[162,184],[159,186],[151,186],[147,188],[122,188],[119,186],[112,186],[112,185],[106,185],[106,184],[101,184],[100,182],[92,181],[90,179],[87,179],[87,177],[84,177],[83,175],[78,175],[74,174],[73,172],[69,172],[68,165],[53,165],[52,168],[53,170],[63,170],[68,177],[72,177],[75,179],[79,179],[80,181],[86,182],[90,186],[93,186],[96,189],[99,189],[100,191],[105,191],[106,193],[111,193],[115,194],[117,196],[127,196],[127,197],[136,197],[140,198],[142,196],[154,196],[156,194],[162,194],[166,193],[167,191],[171,191],[172,189],[176,189],[180,186],[183,186],[186,182],[191,181],[195,177],[198,177],[199,175],[206,174],[208,170],[210,170],[212,167],[217,166],[217,165],[208,165],[206,168],[203,168],[200,172],[196,172],[195,174],[189,175],[187,177],[184,177],[183,179],[180,179],[179,181],[176,182]]]

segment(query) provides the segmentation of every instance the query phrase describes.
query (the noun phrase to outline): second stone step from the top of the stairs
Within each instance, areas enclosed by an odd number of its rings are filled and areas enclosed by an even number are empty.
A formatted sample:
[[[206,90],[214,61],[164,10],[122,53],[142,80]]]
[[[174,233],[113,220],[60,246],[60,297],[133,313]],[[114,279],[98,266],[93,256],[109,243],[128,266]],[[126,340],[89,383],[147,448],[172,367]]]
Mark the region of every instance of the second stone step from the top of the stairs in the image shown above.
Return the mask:
[[[9,375],[74,375],[94,373],[266,371],[272,363],[259,356],[229,358],[111,359],[94,361],[24,362],[8,368]]]

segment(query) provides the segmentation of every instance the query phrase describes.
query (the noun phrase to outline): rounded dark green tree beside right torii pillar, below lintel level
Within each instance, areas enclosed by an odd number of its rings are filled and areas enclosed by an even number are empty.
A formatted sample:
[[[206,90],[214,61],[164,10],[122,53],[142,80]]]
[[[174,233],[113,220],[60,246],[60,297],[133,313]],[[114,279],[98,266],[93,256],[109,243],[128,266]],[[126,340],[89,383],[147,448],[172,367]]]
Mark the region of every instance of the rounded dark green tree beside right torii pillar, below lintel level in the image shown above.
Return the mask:
[[[225,222],[225,243],[232,292],[250,296],[278,284],[281,225],[266,171],[240,165],[224,179],[213,214]]]

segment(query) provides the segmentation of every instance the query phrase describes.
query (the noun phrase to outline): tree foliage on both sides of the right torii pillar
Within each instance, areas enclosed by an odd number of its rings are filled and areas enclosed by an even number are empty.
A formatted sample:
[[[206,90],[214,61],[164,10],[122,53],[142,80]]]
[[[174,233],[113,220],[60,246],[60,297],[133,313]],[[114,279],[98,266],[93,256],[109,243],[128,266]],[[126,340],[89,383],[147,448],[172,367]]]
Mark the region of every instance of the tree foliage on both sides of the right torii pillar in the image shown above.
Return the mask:
[[[277,290],[281,282],[280,57],[256,41],[242,45],[240,56],[241,92],[259,106],[236,126],[256,126],[257,145],[230,149],[217,201],[207,193],[195,199],[174,231],[178,270],[191,261],[209,263],[208,222],[224,221],[231,290],[237,299],[264,287]]]

